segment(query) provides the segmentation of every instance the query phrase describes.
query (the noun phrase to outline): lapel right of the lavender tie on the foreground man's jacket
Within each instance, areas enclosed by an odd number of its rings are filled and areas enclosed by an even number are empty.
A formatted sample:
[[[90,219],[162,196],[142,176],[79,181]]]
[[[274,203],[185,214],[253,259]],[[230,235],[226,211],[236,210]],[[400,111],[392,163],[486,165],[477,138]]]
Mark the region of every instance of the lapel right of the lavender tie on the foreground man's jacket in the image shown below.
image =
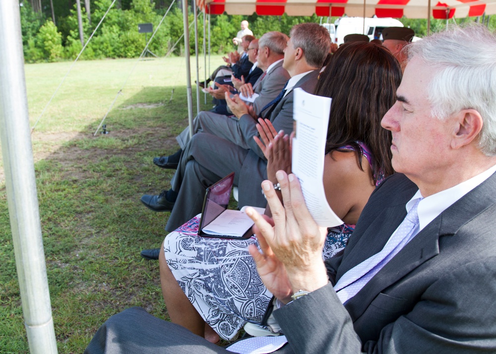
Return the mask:
[[[456,233],[463,225],[473,220],[477,215],[495,203],[496,174],[489,177],[485,182],[464,195],[438,215],[417,236],[405,245],[405,247],[393,257],[357,295],[352,297],[346,303],[346,308],[352,315],[352,318],[357,319],[360,317],[369,307],[375,296],[384,291],[384,289],[397,283],[404,276],[437,256],[439,254],[439,239],[441,237],[456,237]],[[399,223],[401,223],[406,215],[406,211],[404,208],[398,209],[403,209],[403,217],[399,220]],[[399,218],[398,215],[399,214],[395,214],[394,216],[396,218],[394,223],[396,227],[394,227],[389,234],[383,235],[392,235],[392,232],[394,232],[397,225],[399,225],[399,223],[397,223],[397,219]],[[377,219],[388,220],[382,219],[382,217]],[[385,241],[387,241],[387,239],[383,240],[379,250],[382,249]],[[366,244],[367,242],[364,239],[362,246],[365,247]],[[357,243],[357,246],[360,247],[361,245]],[[375,246],[374,248],[377,247]],[[375,253],[372,253],[371,255]],[[368,257],[364,259],[367,258]],[[358,263],[355,263],[355,265],[356,264]]]

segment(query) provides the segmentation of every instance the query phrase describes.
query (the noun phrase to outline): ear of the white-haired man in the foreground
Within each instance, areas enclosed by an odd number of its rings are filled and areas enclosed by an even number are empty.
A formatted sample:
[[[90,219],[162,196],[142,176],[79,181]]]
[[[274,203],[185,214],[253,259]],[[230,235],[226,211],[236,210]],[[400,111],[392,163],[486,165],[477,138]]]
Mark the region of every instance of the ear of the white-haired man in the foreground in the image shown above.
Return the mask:
[[[451,148],[459,149],[471,144],[474,140],[478,143],[483,124],[483,119],[478,111],[473,109],[461,110],[455,116]]]

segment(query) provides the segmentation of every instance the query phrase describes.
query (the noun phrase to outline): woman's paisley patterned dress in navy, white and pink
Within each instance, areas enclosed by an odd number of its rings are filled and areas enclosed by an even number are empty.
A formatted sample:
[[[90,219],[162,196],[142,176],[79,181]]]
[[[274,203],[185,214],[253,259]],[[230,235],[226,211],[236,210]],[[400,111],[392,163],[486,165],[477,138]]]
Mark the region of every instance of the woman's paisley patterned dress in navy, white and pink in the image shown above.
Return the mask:
[[[368,149],[360,144],[370,160]],[[343,150],[353,150],[345,146]],[[165,258],[172,274],[203,319],[221,338],[231,340],[246,322],[260,323],[272,294],[265,288],[246,240],[197,236],[199,215],[167,235]],[[355,225],[329,229],[322,258],[343,249]]]

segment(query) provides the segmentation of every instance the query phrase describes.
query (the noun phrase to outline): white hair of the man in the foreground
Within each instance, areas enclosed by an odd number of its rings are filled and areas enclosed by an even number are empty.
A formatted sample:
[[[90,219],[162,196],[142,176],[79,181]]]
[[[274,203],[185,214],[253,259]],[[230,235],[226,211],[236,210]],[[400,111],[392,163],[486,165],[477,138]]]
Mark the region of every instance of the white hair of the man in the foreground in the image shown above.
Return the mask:
[[[483,118],[479,148],[496,156],[496,34],[482,25],[451,26],[407,46],[436,69],[429,86],[431,114],[445,119],[463,109]]]

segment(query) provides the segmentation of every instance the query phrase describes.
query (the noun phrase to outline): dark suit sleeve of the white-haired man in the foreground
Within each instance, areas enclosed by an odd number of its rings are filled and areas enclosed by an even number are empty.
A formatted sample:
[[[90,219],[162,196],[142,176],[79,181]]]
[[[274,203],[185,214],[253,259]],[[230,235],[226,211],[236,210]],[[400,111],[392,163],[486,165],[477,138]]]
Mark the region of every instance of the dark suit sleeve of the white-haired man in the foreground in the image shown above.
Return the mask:
[[[439,275],[410,312],[383,327],[377,341],[364,344],[331,284],[274,316],[295,353],[495,353],[494,269],[496,257],[490,257]],[[374,300],[371,306],[378,317],[400,310],[401,300]]]

